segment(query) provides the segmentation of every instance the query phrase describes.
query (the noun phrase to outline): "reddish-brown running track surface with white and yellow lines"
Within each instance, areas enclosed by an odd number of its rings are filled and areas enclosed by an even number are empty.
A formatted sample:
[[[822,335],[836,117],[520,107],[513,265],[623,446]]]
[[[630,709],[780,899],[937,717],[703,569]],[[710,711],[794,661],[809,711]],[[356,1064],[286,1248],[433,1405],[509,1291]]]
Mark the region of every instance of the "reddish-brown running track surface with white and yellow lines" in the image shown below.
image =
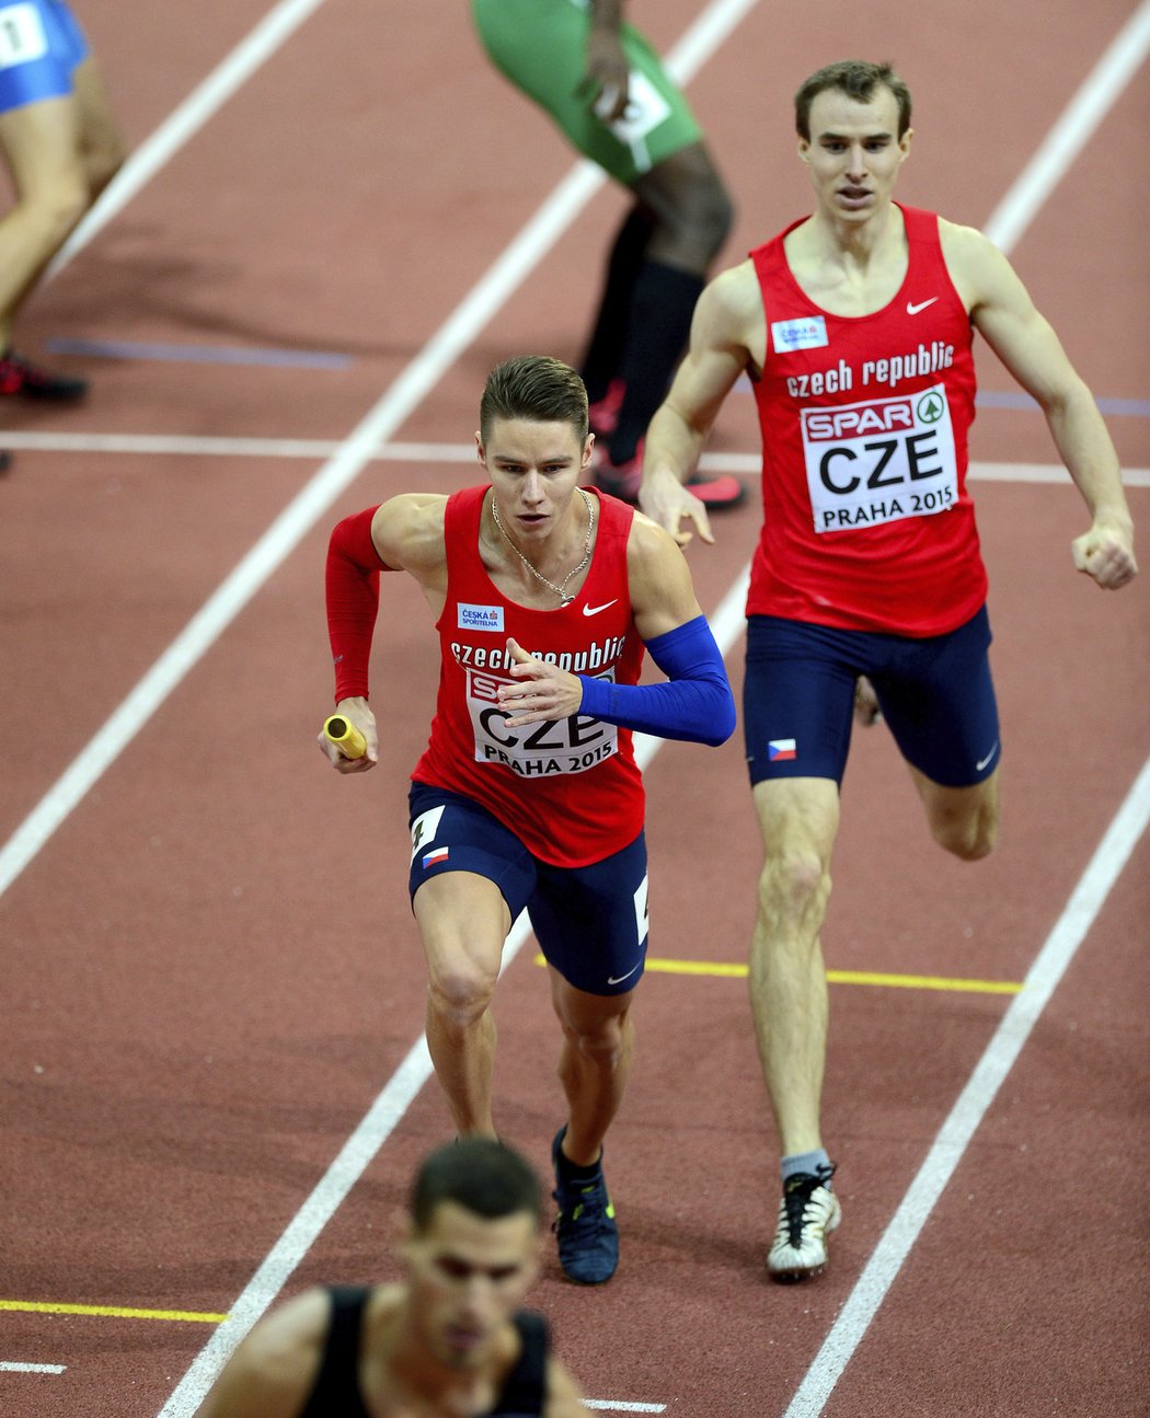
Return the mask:
[[[394,1273],[407,1178],[448,1129],[404,891],[434,640],[389,579],[384,761],[337,778],[312,742],[323,549],[345,512],[474,479],[486,370],[579,357],[623,207],[488,67],[462,3],[267,7],[79,4],[136,156],[21,343],[94,393],[0,415],[11,1418],[190,1418],[268,1303]],[[1150,6],[634,17],[689,74],[739,200],[725,264],[807,210],[797,82],[851,51],[899,65],[917,129],[900,196],[1010,250],[1110,414],[1146,562]],[[605,1411],[1150,1411],[1150,573],[1119,596],[1073,574],[1085,520],[1044,421],[980,369],[1001,848],[944,858],[885,730],[856,735],[824,937],[845,1219],[827,1275],[778,1288],[742,749],[651,759],[666,964],[607,1150],[624,1259],[583,1292],[549,1252],[535,1295]],[[754,450],[736,394],[712,457],[752,478]],[[736,682],[757,522],[752,496],[691,552]],[[557,1029],[513,943],[499,1126],[543,1168]]]

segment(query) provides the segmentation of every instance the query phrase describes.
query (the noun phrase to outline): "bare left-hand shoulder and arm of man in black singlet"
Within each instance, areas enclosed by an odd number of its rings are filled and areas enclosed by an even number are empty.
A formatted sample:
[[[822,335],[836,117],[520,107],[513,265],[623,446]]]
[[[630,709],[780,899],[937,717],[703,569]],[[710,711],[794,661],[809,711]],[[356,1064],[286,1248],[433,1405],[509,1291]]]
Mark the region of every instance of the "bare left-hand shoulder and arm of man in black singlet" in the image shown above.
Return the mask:
[[[296,1418],[319,1371],[329,1312],[328,1296],[308,1290],[262,1319],[196,1418]]]

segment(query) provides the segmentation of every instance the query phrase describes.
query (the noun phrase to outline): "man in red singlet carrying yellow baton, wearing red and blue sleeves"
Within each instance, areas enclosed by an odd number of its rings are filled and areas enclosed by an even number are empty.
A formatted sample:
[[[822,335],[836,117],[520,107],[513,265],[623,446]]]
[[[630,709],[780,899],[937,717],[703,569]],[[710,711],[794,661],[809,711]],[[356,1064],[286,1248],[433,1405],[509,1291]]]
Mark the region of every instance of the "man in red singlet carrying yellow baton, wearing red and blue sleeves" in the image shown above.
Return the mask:
[[[410,794],[431,1058],[458,1132],[495,1136],[489,1005],[503,942],[526,910],[563,1029],[569,1116],[552,1144],[559,1258],[588,1285],[618,1261],[603,1139],[627,1083],[630,1004],[647,953],[631,732],[722,743],[735,729],[722,655],[674,539],[579,486],[593,442],[574,370],[540,356],[508,360],[479,410],[489,482],[450,498],[391,498],[339,523],[328,556],[336,703],[367,754],[343,759],[320,735],[340,771],[376,763],[367,659],[379,573],[408,571],[435,615],[442,659]],[[665,681],[638,682],[644,652]]]

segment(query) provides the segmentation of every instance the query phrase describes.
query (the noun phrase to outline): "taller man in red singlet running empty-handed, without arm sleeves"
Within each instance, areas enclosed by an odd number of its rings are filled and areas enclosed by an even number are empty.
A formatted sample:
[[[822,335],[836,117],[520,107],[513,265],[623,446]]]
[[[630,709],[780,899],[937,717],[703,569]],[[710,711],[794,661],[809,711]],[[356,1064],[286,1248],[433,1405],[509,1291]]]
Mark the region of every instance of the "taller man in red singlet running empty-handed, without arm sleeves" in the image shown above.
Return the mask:
[[[1089,389],[1005,257],[892,200],[910,95],[845,61],[795,96],[814,213],[703,291],[691,349],[647,437],[640,505],[713,540],[683,486],[742,373],[763,431],[764,522],[747,600],[747,760],[764,844],[752,1005],[783,1151],[767,1268],[818,1272],[839,1221],[822,1147],[830,896],[851,709],[881,710],[934,838],[973,861],[998,822],[986,571],[966,488],[977,330],[1045,411],[1090,518],[1073,564],[1115,590],[1133,525]]]

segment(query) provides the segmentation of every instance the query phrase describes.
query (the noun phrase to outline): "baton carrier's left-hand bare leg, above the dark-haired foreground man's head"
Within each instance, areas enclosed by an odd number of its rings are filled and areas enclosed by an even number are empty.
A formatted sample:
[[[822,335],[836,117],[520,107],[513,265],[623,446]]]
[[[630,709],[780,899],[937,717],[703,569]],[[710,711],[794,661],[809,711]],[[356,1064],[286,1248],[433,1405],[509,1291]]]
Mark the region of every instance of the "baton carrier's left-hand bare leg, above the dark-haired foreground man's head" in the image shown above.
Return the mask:
[[[499,977],[510,912],[499,888],[474,872],[441,872],[415,892],[427,956],[427,1046],[461,1137],[495,1137],[491,1081]]]

